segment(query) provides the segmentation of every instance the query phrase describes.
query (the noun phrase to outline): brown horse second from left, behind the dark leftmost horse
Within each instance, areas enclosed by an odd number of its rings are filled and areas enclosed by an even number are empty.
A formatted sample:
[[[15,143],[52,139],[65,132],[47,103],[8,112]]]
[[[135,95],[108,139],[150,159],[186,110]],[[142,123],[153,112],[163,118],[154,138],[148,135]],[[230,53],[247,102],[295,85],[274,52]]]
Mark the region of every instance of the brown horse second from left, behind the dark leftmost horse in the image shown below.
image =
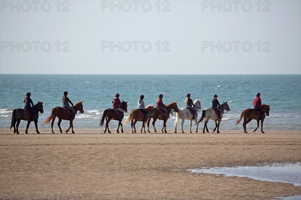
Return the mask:
[[[79,110],[80,113],[84,113],[83,102],[82,101],[79,101],[76,104],[74,104],[72,106],[72,108],[74,108],[75,114],[77,113],[78,110]],[[60,106],[52,108],[50,116],[48,118],[46,118],[45,121],[43,121],[42,124],[48,124],[52,120],[52,122],[51,122],[51,132],[54,133],[54,131],[53,131],[53,124],[54,124],[55,118],[58,117],[59,118],[58,126],[60,128],[60,133],[63,133],[63,131],[61,129],[61,122],[62,122],[63,119],[70,121],[69,128],[65,131],[65,133],[68,133],[68,131],[70,130],[70,128],[72,128],[71,129],[72,133],[75,133],[73,131],[73,120],[74,119],[73,119],[72,115],[70,115],[71,113],[68,113],[68,111],[69,110],[67,108],[62,108]]]

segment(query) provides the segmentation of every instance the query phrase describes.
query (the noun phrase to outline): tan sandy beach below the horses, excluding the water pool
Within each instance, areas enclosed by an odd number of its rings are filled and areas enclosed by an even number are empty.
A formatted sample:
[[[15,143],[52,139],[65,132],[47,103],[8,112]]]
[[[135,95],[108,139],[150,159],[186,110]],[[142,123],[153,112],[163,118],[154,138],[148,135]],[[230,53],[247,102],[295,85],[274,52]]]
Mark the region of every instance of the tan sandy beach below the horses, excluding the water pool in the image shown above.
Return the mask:
[[[300,162],[300,132],[40,132],[1,131],[1,199],[272,199],[301,195],[300,186],[289,183],[187,170]]]

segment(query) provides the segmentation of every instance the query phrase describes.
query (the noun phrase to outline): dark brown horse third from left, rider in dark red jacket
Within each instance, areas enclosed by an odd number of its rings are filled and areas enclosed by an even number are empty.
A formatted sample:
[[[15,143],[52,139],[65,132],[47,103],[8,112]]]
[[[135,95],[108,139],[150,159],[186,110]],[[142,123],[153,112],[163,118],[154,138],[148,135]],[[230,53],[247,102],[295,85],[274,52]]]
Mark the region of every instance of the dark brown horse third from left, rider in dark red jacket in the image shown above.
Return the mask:
[[[124,112],[127,112],[127,102],[122,101],[121,104],[122,104],[121,109],[124,110]],[[103,111],[103,114],[100,118],[99,126],[103,126],[103,122],[104,122],[104,118],[105,118],[106,124],[105,124],[104,133],[106,132],[107,129],[108,129],[108,133],[111,133],[111,131],[109,130],[108,124],[112,119],[118,121],[117,133],[119,133],[119,126],[121,126],[121,133],[123,133],[121,121],[122,121],[124,115],[123,115],[123,113],[120,113],[120,115],[122,115],[122,118],[118,119],[118,115],[116,112],[119,112],[119,111],[115,111],[114,109],[111,109],[111,108],[108,108]]]

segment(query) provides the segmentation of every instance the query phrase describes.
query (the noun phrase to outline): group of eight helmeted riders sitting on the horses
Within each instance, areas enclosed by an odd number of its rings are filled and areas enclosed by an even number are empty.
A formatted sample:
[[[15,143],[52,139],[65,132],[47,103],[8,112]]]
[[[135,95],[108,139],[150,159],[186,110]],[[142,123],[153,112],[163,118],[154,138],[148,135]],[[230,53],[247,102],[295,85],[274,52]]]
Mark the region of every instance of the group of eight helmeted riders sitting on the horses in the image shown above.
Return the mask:
[[[67,97],[67,95],[68,95],[68,92],[65,91],[64,95],[62,97],[63,108],[69,109],[71,111],[71,117],[72,117],[72,119],[74,119],[76,113],[74,112],[74,108],[69,105],[69,103],[70,103],[73,106],[73,103],[70,101],[70,99]],[[34,106],[34,103],[33,103],[32,99],[30,98],[30,96],[31,96],[31,93],[28,92],[26,94],[26,97],[24,98],[23,102],[25,103],[24,109],[26,109],[32,113],[32,115],[29,119],[30,121],[32,121],[33,117],[35,115],[35,110],[33,109],[33,107],[31,107],[31,105]],[[120,113],[122,113],[119,115],[119,119],[121,119],[123,117],[124,110],[122,110],[122,108],[121,108],[122,104],[119,99],[119,96],[120,95],[118,93],[115,94],[115,97],[112,100],[112,107],[114,110],[117,110]],[[190,97],[191,97],[191,94],[186,95],[186,99],[185,99],[186,108],[191,110],[194,113],[192,119],[195,119],[198,108],[194,105],[194,103]],[[212,109],[215,109],[216,111],[218,111],[218,118],[221,118],[221,116],[220,116],[221,110],[219,109],[220,103],[218,102],[217,97],[218,96],[215,94],[212,98]],[[143,117],[142,121],[145,121],[145,117],[146,117],[147,113],[145,111],[143,99],[144,99],[144,95],[140,95],[140,98],[137,102],[136,109],[143,113],[144,117]],[[162,110],[164,112],[163,115],[165,118],[168,117],[167,116],[167,106],[163,103],[163,94],[159,95],[159,97],[156,101],[156,106],[157,106],[157,108],[159,108],[160,110]],[[260,111],[259,118],[261,118],[262,115],[264,114],[264,110],[260,107],[261,106],[260,93],[257,93],[255,98],[253,99],[253,106],[256,110]]]

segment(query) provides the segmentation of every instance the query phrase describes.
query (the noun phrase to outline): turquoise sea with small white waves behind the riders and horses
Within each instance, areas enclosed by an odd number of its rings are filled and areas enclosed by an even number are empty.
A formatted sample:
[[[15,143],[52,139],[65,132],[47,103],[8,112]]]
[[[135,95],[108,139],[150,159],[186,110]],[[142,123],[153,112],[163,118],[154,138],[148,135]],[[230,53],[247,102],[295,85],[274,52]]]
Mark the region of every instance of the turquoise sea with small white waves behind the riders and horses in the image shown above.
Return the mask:
[[[218,95],[220,103],[227,101],[230,111],[225,114],[220,131],[229,132],[242,130],[242,122],[234,125],[240,113],[246,108],[252,108],[252,100],[257,92],[261,93],[263,104],[270,105],[270,115],[264,120],[264,131],[301,130],[301,76],[300,75],[15,75],[0,76],[0,121],[1,128],[7,128],[11,122],[12,111],[23,108],[26,92],[31,92],[34,103],[43,101],[44,113],[39,117],[39,127],[47,129],[42,121],[50,115],[51,109],[62,106],[61,98],[64,91],[73,103],[83,101],[84,113],[77,114],[74,128],[102,128],[98,126],[103,111],[111,108],[115,93],[120,94],[120,100],[127,101],[128,112],[135,109],[137,100],[143,94],[145,105],[156,105],[159,94],[163,94],[163,102],[168,104],[177,101],[178,107],[185,107],[187,93],[191,98],[201,99],[202,109],[211,107],[214,94]],[[199,112],[199,117],[202,112]],[[176,115],[168,120],[168,129],[174,129]],[[56,120],[57,122],[57,120]],[[55,124],[56,124],[55,122]],[[194,122],[193,122],[194,123]],[[26,122],[22,121],[21,127]],[[137,123],[140,128],[141,123]],[[116,128],[117,121],[112,121],[110,127]],[[162,121],[156,123],[161,128]],[[68,122],[62,123],[62,128]],[[210,132],[214,128],[210,120]],[[55,126],[56,127],[56,126]],[[203,123],[200,123],[199,130]],[[247,129],[253,130],[256,121],[251,121]],[[129,124],[124,129],[129,129]],[[186,120],[184,128],[189,128]],[[152,128],[153,129],[153,128]],[[178,123],[181,129],[181,122]],[[196,126],[192,127],[193,132]]]

